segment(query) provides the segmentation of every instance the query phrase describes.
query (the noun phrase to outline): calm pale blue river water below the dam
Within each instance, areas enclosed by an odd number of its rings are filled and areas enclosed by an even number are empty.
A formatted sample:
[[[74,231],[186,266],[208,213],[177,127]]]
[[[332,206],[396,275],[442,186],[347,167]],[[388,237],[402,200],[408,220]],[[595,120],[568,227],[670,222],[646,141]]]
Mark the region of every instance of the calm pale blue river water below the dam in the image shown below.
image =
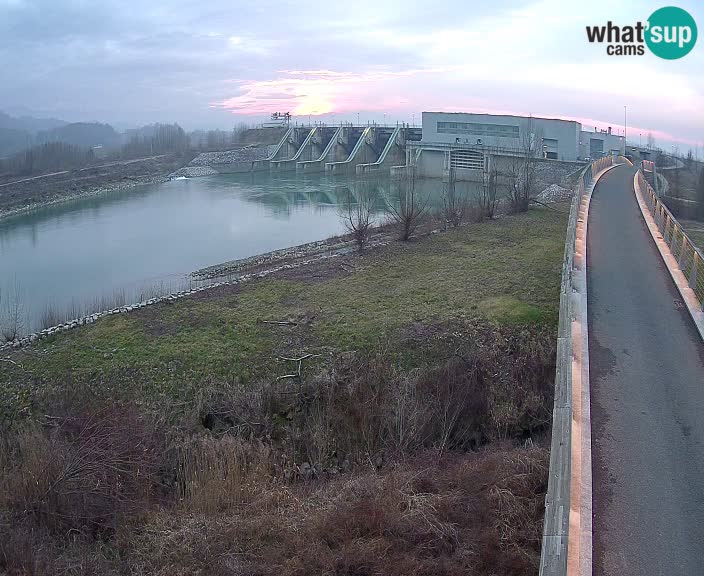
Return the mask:
[[[384,177],[218,175],[0,219],[0,321],[19,309],[29,332],[50,317],[181,289],[199,268],[344,233],[340,207],[360,187],[373,190],[382,218],[398,185]],[[478,184],[461,185],[478,193]],[[440,205],[440,181],[418,180],[416,189]]]

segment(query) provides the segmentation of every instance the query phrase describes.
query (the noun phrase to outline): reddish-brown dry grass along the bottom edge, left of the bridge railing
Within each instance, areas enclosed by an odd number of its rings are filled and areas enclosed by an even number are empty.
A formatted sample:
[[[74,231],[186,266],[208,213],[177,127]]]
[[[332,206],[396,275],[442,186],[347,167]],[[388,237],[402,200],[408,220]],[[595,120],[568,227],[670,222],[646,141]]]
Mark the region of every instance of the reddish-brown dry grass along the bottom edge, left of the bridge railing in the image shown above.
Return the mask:
[[[437,452],[326,483],[269,487],[248,506],[159,515],[131,559],[149,574],[537,572],[547,452]]]

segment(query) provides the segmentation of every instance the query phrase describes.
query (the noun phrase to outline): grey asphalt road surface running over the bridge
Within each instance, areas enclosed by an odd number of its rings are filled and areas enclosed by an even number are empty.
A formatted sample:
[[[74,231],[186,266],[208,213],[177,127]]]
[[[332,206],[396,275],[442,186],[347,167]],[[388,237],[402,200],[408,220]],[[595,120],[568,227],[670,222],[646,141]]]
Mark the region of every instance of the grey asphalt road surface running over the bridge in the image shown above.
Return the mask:
[[[704,345],[631,168],[597,185],[587,243],[594,574],[704,575]]]

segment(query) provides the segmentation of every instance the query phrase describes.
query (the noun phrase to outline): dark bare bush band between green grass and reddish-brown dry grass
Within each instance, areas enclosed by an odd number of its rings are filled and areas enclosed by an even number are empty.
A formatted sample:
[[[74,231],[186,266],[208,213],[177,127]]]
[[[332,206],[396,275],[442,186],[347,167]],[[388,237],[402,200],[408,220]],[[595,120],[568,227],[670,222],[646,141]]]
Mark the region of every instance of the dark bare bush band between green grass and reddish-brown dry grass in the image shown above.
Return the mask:
[[[549,427],[552,335],[489,328],[465,338],[449,358],[412,372],[375,350],[342,355],[288,387],[265,383],[218,396],[208,427],[265,442],[279,454],[275,474],[303,477],[378,468],[428,448],[473,450]],[[301,472],[303,463],[310,468]]]

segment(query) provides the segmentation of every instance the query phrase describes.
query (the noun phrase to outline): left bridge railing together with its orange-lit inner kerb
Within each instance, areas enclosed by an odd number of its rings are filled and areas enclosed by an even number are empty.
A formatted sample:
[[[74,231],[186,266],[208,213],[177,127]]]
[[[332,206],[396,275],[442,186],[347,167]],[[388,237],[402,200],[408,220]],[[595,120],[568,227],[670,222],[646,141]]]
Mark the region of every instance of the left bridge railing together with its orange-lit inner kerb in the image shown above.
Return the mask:
[[[623,162],[626,160],[622,157],[606,156],[584,168],[570,206],[562,261],[555,401],[540,576],[591,574],[586,225],[596,179],[605,170]],[[584,572],[583,568],[586,568]]]

